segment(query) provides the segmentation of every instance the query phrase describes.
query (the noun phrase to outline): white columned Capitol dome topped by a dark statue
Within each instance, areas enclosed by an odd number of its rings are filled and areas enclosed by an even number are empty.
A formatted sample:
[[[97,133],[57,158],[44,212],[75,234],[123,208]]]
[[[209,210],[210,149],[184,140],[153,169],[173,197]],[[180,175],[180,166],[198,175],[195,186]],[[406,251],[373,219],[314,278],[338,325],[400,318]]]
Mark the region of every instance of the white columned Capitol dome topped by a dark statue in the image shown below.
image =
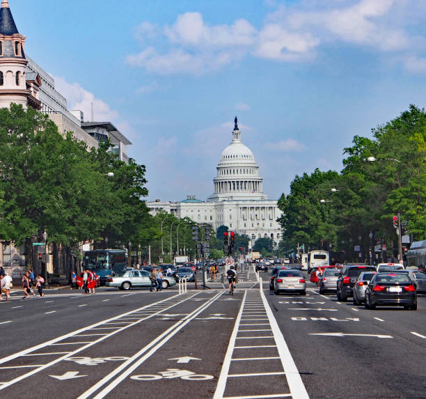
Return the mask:
[[[267,199],[263,179],[253,152],[241,141],[238,120],[232,130],[232,141],[221,155],[214,178],[214,194],[209,201]]]

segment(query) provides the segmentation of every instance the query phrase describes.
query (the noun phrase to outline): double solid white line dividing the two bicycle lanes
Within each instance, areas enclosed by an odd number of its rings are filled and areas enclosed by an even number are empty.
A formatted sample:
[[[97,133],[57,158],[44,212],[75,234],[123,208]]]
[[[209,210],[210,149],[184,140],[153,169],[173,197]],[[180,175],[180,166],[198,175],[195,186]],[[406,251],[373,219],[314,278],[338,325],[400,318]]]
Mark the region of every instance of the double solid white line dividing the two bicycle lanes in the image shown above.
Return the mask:
[[[159,347],[163,346],[166,342],[168,342],[175,334],[178,333],[184,326],[186,326],[191,320],[196,318],[201,312],[205,311],[206,308],[208,308],[213,302],[216,301],[216,299],[219,299],[221,295],[223,294],[223,291],[218,292],[214,297],[210,298],[200,307],[196,308],[194,311],[189,313],[189,315],[185,316],[173,326],[168,328],[166,331],[164,331],[163,334],[160,336],[157,336],[153,341],[151,341],[148,345],[143,347],[139,352],[134,354],[132,357],[127,359],[124,363],[122,363],[120,366],[118,366],[115,370],[113,370],[109,375],[106,375],[102,380],[97,382],[97,384],[93,385],[88,389],[86,392],[82,393],[78,399],[85,399],[91,396],[97,389],[100,389],[104,384],[109,382],[112,378],[114,378],[113,381],[111,381],[107,386],[102,389],[93,399],[100,399],[104,398],[104,396],[107,396],[120,382],[125,380],[127,376],[136,370],[141,364],[148,359],[152,354],[155,354],[155,352],[159,349]],[[148,350],[148,352],[147,352]],[[145,353],[146,352],[146,353]],[[145,354],[144,354],[145,353]],[[144,354],[144,355],[143,355]],[[143,355],[141,357],[141,355]],[[141,357],[139,360],[139,357]],[[135,361],[136,360],[136,361]],[[134,362],[131,366],[130,364]],[[120,375],[117,376],[118,373],[120,373],[122,370],[124,370],[127,366],[127,370],[123,371]]]

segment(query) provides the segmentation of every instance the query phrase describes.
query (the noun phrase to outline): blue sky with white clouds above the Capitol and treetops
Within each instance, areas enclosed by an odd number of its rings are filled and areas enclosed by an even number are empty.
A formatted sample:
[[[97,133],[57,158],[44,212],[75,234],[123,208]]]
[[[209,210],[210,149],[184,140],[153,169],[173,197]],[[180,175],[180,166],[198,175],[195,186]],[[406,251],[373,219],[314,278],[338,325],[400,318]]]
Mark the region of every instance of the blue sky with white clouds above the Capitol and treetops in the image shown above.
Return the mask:
[[[111,120],[149,199],[206,199],[235,115],[269,198],[425,106],[422,0],[9,0],[70,109]]]

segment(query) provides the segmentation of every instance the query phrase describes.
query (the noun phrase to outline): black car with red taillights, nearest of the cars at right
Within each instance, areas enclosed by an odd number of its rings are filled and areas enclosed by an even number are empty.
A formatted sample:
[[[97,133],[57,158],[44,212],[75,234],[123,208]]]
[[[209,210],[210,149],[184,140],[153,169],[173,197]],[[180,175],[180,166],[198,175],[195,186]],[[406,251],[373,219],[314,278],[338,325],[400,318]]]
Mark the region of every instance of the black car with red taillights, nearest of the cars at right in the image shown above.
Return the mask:
[[[407,273],[376,273],[365,290],[365,308],[404,306],[417,310],[417,292]]]

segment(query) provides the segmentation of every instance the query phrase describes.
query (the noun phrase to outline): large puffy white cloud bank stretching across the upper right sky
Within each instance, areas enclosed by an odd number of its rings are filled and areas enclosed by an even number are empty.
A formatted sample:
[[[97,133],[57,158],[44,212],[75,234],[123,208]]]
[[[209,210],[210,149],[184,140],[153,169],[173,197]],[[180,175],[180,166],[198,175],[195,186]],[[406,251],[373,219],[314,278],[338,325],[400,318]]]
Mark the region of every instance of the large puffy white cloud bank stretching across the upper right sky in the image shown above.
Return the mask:
[[[202,75],[248,55],[281,62],[310,60],[327,42],[381,52],[414,46],[404,31],[408,19],[398,18],[401,10],[409,8],[407,1],[301,1],[283,6],[266,0],[265,4],[275,10],[258,29],[246,19],[208,24],[200,13],[178,15],[171,25],[142,22],[136,28],[140,40],[159,36],[163,41],[127,56],[127,63],[159,75]]]

